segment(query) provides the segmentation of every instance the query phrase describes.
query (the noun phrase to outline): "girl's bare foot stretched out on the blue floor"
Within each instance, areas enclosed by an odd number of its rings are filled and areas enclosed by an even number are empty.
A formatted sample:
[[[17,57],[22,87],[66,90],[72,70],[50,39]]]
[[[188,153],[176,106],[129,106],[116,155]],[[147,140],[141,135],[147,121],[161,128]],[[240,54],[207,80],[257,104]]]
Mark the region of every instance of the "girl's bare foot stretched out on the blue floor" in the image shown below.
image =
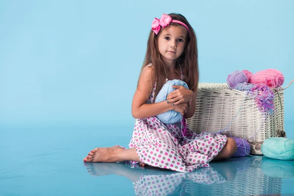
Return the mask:
[[[117,162],[120,161],[120,154],[123,152],[123,147],[98,147],[84,158],[84,162]]]

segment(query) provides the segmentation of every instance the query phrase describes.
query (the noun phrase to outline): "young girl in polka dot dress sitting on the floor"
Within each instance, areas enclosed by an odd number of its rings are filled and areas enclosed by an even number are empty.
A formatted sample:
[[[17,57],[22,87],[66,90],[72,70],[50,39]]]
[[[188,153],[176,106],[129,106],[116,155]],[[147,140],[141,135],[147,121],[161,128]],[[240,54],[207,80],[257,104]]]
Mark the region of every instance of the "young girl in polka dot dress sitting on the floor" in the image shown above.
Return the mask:
[[[196,134],[189,128],[184,137],[181,123],[165,124],[156,117],[170,110],[181,113],[185,119],[194,115],[199,77],[197,58],[196,35],[184,16],[172,13],[163,14],[160,20],[155,18],[132,101],[132,115],[137,120],[130,148],[95,148],[84,162],[130,160],[142,166],[192,172],[209,167],[212,160],[231,157],[237,150],[234,139],[215,133]],[[176,90],[167,100],[154,103],[162,86],[172,79],[185,81],[191,90],[173,86]]]

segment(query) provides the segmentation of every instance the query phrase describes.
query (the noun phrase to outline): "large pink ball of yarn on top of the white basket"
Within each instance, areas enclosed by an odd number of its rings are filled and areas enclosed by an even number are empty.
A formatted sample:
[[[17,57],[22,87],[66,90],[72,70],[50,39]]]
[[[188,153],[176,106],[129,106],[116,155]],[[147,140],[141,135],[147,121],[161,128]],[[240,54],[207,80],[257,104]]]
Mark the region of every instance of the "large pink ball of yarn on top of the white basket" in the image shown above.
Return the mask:
[[[265,84],[270,88],[276,88],[282,86],[284,81],[283,73],[275,69],[267,69],[254,73],[250,82],[252,84]]]

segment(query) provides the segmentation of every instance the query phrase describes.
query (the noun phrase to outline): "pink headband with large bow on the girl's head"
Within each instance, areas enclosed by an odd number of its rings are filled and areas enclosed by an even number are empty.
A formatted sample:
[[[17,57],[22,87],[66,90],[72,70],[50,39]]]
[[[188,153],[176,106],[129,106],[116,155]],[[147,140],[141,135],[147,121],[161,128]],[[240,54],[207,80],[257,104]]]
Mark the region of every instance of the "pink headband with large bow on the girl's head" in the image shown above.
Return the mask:
[[[185,26],[188,30],[188,33],[190,34],[190,31],[189,31],[189,28],[188,26],[181,22],[181,21],[176,21],[176,20],[172,20],[172,17],[167,15],[167,14],[163,14],[159,19],[155,18],[153,20],[153,23],[152,23],[152,31],[154,31],[154,33],[157,35],[160,31],[160,26],[162,26],[162,28],[166,27],[167,25],[170,25],[170,23],[178,23],[178,24],[181,24],[183,26]]]

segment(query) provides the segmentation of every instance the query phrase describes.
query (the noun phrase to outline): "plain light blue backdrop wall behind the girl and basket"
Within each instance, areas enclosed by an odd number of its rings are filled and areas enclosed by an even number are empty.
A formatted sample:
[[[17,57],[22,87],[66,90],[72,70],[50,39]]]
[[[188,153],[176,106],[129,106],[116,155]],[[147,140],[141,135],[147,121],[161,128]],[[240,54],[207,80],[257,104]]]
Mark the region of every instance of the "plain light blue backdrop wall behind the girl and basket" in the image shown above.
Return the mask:
[[[0,125],[132,126],[148,32],[162,13],[194,27],[200,82],[273,68],[285,87],[294,78],[293,10],[293,0],[1,1]],[[286,122],[293,97],[294,85]]]

